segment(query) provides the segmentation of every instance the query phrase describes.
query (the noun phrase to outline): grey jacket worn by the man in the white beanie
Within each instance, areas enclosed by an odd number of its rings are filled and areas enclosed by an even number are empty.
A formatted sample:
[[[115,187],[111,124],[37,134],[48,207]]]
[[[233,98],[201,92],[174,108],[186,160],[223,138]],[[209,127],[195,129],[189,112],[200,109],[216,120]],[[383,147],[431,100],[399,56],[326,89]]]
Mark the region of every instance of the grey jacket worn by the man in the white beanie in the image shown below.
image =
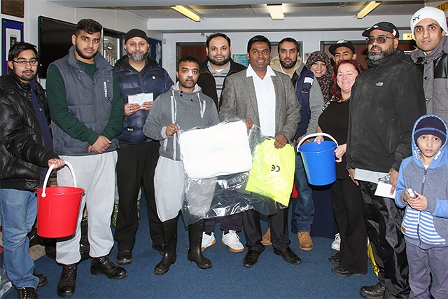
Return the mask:
[[[425,90],[426,110],[441,116],[448,123],[448,78],[446,76],[434,76],[434,62],[444,53],[448,54],[448,36],[443,36],[440,43],[428,55],[422,50],[411,52],[412,61],[423,66],[423,89]],[[418,65],[418,64],[417,64]]]

